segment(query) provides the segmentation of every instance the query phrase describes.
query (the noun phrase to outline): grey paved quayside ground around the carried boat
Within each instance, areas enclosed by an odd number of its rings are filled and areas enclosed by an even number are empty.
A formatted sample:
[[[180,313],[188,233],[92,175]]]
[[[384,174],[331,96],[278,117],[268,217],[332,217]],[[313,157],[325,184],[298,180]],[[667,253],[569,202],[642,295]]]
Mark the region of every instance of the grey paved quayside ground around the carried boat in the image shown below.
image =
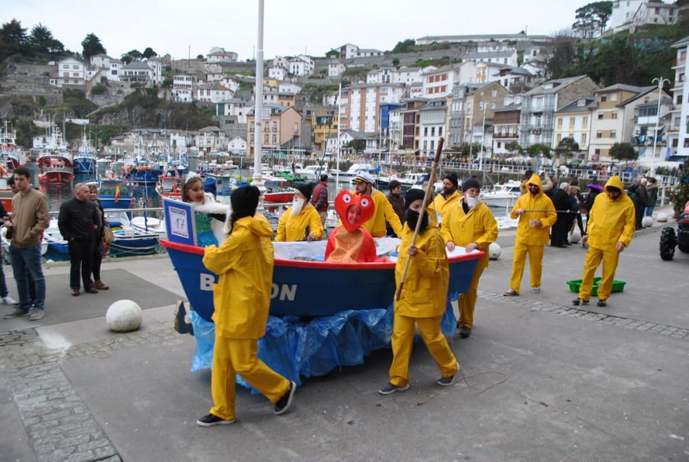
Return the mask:
[[[451,339],[464,374],[495,373],[439,393],[418,344],[410,390],[380,396],[391,359],[382,350],[305,381],[284,416],[239,390],[237,423],[210,429],[195,424],[211,405],[210,374],[189,372],[194,339],[172,330],[171,300],[183,297],[172,265],[107,263],[105,274],[127,284],[108,301],[143,300],[141,330],[107,332],[105,298],[79,297],[94,301],[88,311],[68,290],[50,294],[61,314],[40,325],[0,321],[0,459],[689,460],[689,254],[661,261],[657,229],[638,233],[617,274],[625,291],[608,308],[579,310],[564,282],[581,277],[580,246],[546,250],[542,294],[527,279],[522,297],[502,297],[509,237],[482,279],[472,337]],[[67,270],[51,268],[49,280]]]

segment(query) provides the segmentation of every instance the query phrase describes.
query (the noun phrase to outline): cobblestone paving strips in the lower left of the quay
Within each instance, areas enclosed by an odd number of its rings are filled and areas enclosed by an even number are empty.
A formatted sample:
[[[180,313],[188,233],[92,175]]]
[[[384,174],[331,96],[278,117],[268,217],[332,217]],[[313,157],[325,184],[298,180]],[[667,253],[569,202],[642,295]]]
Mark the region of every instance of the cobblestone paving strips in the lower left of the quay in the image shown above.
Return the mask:
[[[143,343],[174,339],[172,329],[129,334],[107,341],[49,350],[34,329],[0,332],[0,370],[39,461],[120,461],[114,445],[76,393],[61,359],[92,355]]]

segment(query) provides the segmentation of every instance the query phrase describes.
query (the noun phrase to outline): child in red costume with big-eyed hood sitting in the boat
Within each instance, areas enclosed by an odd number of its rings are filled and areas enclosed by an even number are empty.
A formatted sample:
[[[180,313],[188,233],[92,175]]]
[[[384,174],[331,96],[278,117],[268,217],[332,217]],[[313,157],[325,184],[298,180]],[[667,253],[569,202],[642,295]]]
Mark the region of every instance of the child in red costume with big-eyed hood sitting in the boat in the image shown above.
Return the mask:
[[[373,217],[373,199],[366,194],[356,196],[342,191],[335,198],[335,210],[342,217],[342,225],[328,238],[325,261],[337,263],[367,263],[377,261],[376,243],[362,223]]]

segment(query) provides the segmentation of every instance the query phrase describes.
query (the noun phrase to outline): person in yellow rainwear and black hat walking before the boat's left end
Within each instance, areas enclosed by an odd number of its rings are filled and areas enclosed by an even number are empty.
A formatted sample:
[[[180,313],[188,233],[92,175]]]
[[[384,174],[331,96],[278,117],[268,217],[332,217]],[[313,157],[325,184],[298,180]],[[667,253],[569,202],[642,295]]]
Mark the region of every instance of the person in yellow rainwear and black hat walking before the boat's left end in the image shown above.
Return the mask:
[[[214,407],[196,421],[202,427],[234,423],[236,374],[274,403],[276,414],[287,411],[296,390],[296,383],[256,357],[268,321],[274,264],[273,230],[263,217],[254,217],[259,194],[256,186],[234,190],[232,230],[219,248],[205,248],[203,265],[220,278],[213,287]]]

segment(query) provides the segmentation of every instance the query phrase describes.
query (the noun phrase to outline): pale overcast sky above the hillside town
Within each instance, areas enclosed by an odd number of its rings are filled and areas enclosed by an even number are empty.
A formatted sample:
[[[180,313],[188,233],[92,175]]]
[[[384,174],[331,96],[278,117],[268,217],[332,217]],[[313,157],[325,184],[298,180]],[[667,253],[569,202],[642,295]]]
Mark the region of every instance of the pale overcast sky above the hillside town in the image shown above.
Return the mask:
[[[265,57],[333,47],[391,50],[425,35],[553,34],[574,22],[587,0],[265,0]],[[174,58],[207,54],[213,46],[254,56],[258,0],[0,0],[0,19],[24,28],[42,23],[65,48],[81,52],[94,32],[112,57],[150,46]]]

